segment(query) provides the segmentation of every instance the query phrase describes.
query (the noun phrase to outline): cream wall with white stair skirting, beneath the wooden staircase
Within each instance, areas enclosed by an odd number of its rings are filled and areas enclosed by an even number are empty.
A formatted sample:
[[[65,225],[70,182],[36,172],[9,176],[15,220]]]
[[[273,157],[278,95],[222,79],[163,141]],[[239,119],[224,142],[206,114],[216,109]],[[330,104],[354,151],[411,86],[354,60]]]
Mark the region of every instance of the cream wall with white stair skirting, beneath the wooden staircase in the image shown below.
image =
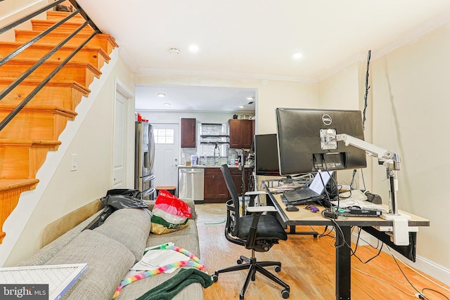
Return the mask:
[[[78,105],[79,115],[75,121],[69,122],[61,133],[59,140],[63,145],[57,152],[49,153],[39,169],[37,178],[41,182],[37,189],[23,193],[13,214],[6,220],[6,237],[0,245],[0,257],[8,258],[5,266],[13,266],[40,249],[41,235],[49,223],[103,197],[113,188],[116,81],[120,80],[125,89],[134,93],[131,72],[118,58],[117,51],[112,53],[110,64],[102,68],[102,77],[89,86],[91,95]],[[134,130],[134,98],[131,102],[129,124]],[[70,136],[72,132],[73,136]],[[128,145],[131,155],[127,156],[127,165],[133,166],[133,135],[130,135]],[[70,171],[72,153],[78,155],[77,171]],[[132,174],[132,170],[127,172],[130,187]]]

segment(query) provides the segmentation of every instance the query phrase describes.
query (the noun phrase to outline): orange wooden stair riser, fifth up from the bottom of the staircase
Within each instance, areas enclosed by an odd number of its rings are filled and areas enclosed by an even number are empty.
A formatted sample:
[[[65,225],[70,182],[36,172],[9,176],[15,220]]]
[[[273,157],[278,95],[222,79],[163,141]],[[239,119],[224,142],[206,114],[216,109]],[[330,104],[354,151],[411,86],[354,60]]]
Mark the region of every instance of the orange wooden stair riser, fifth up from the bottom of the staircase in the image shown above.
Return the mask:
[[[18,62],[16,60],[11,60],[2,66],[1,74],[4,77],[19,77],[24,72],[26,72],[33,63],[30,62]],[[58,65],[44,63],[37,68],[34,72],[30,74],[28,78],[32,79],[44,79],[47,77]],[[75,80],[84,86],[89,86],[89,84],[94,81],[96,74],[92,70],[86,67],[86,65],[75,65],[68,64],[65,65],[55,77],[51,79],[52,81],[59,80]]]

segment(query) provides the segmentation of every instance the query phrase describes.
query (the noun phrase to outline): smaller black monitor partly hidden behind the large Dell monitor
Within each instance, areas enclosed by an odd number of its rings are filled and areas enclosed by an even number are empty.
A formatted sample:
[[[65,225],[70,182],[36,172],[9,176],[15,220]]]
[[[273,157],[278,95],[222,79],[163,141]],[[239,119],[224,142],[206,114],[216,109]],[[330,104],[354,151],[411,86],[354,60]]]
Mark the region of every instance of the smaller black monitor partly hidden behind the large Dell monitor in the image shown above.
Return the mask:
[[[255,136],[255,174],[280,176],[278,169],[278,145],[276,134]]]

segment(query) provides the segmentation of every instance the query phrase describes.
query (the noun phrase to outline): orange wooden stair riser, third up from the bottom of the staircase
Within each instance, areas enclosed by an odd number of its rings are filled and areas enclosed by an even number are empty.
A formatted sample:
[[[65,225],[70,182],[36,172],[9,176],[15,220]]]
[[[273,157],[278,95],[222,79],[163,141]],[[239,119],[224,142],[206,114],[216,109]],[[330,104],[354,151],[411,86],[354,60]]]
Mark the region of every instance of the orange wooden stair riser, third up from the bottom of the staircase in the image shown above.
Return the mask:
[[[0,110],[0,119],[6,115],[8,112]],[[60,112],[21,111],[0,131],[0,138],[56,141],[67,122],[73,119],[75,116]]]

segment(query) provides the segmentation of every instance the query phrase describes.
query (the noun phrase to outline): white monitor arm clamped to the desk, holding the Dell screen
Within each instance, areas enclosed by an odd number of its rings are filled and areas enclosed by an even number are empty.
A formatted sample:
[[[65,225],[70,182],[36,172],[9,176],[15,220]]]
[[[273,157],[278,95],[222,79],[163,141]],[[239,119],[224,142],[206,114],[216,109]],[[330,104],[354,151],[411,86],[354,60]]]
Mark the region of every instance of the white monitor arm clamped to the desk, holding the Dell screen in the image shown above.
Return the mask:
[[[369,156],[378,157],[378,164],[383,164],[383,166],[385,166],[386,176],[390,181],[389,212],[394,214],[394,216],[398,216],[397,190],[399,189],[399,185],[396,171],[399,171],[400,169],[399,155],[385,148],[355,138],[354,136],[349,136],[346,133],[336,134],[336,141],[343,141],[346,146],[352,145],[356,148],[365,150]]]

